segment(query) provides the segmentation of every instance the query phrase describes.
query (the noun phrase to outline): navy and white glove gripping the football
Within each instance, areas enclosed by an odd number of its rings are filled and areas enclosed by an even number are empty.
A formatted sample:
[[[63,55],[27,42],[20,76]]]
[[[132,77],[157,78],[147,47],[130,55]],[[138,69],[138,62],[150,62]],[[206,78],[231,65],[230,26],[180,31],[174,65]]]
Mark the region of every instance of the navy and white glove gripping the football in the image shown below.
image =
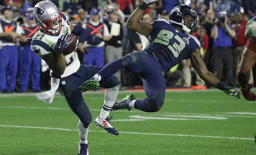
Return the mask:
[[[67,47],[68,47],[69,45],[71,45],[72,43],[73,43],[73,40],[70,40],[70,38],[69,38],[69,36],[68,36],[68,33],[66,33],[65,35],[62,35],[62,36],[58,39],[58,41],[57,41],[57,43],[56,43],[56,45],[55,45],[55,47],[54,47],[54,52],[57,53],[57,54],[61,54],[61,53],[63,53],[63,52],[67,49]]]

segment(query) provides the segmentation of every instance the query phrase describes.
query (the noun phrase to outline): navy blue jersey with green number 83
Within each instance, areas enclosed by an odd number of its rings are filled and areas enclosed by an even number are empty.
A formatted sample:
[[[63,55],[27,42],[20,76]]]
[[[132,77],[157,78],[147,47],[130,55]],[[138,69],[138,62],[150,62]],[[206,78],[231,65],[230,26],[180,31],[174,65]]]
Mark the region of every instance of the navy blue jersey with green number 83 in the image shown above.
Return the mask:
[[[168,72],[181,60],[190,58],[198,48],[200,42],[196,37],[179,32],[165,19],[158,19],[154,21],[151,42],[145,51],[159,59]]]

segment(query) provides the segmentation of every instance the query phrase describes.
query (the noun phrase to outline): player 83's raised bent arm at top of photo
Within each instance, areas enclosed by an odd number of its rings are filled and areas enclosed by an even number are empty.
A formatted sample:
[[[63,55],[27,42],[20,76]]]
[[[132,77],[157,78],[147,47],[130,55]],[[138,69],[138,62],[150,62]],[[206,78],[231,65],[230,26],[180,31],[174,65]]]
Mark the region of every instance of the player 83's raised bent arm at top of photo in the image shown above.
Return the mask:
[[[145,21],[140,21],[143,12],[150,4],[157,2],[157,0],[145,0],[137,9],[133,11],[126,22],[126,27],[135,30],[141,35],[149,36],[153,29],[153,23],[148,23]]]

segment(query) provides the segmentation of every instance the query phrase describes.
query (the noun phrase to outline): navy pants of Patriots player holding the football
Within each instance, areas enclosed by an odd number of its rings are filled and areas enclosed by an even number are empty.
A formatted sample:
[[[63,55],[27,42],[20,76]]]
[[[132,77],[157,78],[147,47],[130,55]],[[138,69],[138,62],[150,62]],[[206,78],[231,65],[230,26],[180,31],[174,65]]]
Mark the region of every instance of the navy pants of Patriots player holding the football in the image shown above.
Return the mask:
[[[79,117],[82,123],[87,125],[91,123],[92,117],[79,87],[84,81],[99,72],[99,70],[101,70],[99,66],[81,65],[76,73],[60,79],[58,88],[58,91],[65,97],[71,110]],[[100,85],[103,88],[113,88],[120,83],[120,79],[113,75],[100,81]]]

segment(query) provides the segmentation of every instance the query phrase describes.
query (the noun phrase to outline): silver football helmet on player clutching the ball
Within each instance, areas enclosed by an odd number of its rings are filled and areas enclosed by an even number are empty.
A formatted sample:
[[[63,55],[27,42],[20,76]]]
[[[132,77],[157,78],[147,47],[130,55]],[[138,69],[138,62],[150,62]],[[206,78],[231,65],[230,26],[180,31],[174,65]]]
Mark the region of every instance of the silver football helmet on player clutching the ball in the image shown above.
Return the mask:
[[[48,34],[58,34],[62,27],[61,12],[48,0],[37,3],[33,10],[35,23]]]

